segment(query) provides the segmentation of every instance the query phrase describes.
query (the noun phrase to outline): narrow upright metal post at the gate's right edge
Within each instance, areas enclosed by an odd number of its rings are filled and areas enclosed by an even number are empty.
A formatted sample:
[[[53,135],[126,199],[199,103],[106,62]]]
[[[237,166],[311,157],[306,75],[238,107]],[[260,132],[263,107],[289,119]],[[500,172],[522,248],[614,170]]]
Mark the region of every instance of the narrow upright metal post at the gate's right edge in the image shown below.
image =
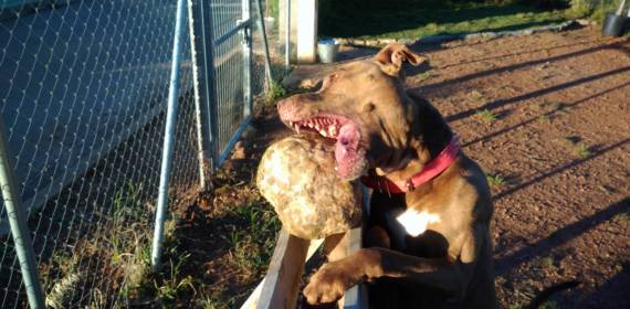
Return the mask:
[[[251,0],[242,0],[242,22],[248,22],[249,25],[243,28],[243,100],[245,106],[243,108],[243,119],[252,115],[252,25],[253,22],[251,11]]]

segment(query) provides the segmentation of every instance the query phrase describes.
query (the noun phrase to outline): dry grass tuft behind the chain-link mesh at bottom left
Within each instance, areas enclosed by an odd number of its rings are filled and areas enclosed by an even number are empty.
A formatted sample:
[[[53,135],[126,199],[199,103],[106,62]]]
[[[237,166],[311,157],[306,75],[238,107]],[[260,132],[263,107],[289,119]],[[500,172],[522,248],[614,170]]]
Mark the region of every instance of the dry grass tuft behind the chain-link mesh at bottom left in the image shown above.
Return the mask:
[[[127,184],[113,194],[109,205],[95,211],[94,220],[98,224],[91,237],[78,238],[73,248],[61,247],[53,252],[41,271],[48,307],[112,307],[122,299],[119,297],[127,298],[130,290],[141,286],[149,275],[153,235],[146,224],[150,222],[153,210],[141,196],[141,187]],[[99,260],[97,269],[88,267],[93,260]],[[92,286],[94,276],[104,276],[107,280]],[[83,289],[91,290],[90,303],[86,299],[76,299],[86,294]]]

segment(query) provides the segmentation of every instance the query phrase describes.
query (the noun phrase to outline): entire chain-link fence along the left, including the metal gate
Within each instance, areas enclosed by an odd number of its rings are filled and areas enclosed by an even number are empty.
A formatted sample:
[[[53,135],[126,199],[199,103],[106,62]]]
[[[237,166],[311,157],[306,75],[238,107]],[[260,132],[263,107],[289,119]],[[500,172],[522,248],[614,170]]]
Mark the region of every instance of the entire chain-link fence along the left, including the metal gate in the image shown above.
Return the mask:
[[[210,188],[282,66],[260,6],[0,0],[0,308],[127,303],[166,206]]]

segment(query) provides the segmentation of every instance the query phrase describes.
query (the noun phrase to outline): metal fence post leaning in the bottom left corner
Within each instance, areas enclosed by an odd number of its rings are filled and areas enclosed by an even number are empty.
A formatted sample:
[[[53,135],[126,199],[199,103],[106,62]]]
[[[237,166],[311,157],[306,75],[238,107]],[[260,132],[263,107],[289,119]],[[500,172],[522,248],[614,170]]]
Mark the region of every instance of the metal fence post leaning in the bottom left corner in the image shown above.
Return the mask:
[[[15,244],[15,253],[20,260],[22,279],[27,287],[27,296],[31,308],[44,308],[44,294],[40,281],[40,273],[35,264],[35,253],[33,243],[29,235],[27,217],[22,207],[21,196],[15,188],[12,166],[9,162],[9,151],[4,137],[4,122],[0,118],[0,187],[9,225],[11,225],[11,236]]]

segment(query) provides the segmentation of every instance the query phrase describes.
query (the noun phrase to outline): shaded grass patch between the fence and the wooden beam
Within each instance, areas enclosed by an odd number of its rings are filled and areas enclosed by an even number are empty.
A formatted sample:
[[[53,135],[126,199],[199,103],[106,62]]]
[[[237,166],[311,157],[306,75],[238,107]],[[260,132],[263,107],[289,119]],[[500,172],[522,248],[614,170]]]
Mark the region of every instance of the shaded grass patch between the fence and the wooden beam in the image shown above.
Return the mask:
[[[244,301],[269,267],[281,223],[263,198],[250,191],[251,187],[237,188],[232,183],[223,190],[221,196],[248,196],[216,201],[206,219],[211,227],[198,227],[203,228],[203,238],[197,238],[201,236],[198,232],[187,233],[195,227],[182,222],[176,236],[165,244],[164,259],[168,262],[159,273],[145,277],[132,299],[148,299],[156,307],[212,309],[235,308]],[[188,244],[206,238],[214,242],[211,249],[188,253],[187,246],[178,243],[180,238]]]

